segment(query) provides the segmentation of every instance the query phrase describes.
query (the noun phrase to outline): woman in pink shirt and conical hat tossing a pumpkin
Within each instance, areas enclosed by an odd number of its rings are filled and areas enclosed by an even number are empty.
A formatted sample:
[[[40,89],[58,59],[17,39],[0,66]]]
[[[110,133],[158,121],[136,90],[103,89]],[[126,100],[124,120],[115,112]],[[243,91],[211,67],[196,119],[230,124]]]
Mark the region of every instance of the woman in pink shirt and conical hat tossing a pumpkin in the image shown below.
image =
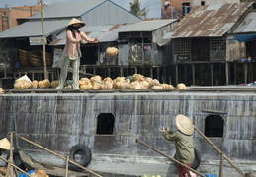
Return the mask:
[[[88,43],[98,43],[97,38],[92,39],[88,37],[83,31],[79,29],[84,27],[85,23],[73,18],[66,26],[66,45],[64,48],[64,59],[61,66],[59,77],[59,84],[56,89],[63,89],[68,74],[69,65],[72,65],[73,72],[73,89],[79,89],[79,66],[80,57],[82,56],[80,44],[83,40]]]

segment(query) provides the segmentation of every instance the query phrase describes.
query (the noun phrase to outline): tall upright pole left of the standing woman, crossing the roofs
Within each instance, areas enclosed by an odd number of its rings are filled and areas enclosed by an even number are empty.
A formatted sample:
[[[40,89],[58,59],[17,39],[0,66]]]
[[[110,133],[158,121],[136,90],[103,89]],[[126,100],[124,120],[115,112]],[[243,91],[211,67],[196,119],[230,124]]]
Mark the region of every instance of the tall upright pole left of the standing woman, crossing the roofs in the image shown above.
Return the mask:
[[[41,3],[41,25],[42,25],[42,37],[43,37],[43,70],[44,70],[44,79],[48,78],[47,72],[47,64],[46,64],[46,55],[45,55],[45,34],[44,34],[44,25],[43,25],[43,0],[40,1]]]

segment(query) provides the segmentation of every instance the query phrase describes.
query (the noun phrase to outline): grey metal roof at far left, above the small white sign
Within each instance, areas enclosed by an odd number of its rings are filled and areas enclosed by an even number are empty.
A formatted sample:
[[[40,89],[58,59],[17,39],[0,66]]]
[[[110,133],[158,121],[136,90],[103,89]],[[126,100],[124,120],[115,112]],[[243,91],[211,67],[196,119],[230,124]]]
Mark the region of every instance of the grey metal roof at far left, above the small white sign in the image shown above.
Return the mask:
[[[69,20],[59,21],[44,21],[44,33],[46,36],[52,34],[52,32],[64,29],[69,23]],[[32,37],[42,36],[42,23],[40,22],[26,22],[14,28],[4,30],[0,32],[0,38],[20,38],[20,37]]]

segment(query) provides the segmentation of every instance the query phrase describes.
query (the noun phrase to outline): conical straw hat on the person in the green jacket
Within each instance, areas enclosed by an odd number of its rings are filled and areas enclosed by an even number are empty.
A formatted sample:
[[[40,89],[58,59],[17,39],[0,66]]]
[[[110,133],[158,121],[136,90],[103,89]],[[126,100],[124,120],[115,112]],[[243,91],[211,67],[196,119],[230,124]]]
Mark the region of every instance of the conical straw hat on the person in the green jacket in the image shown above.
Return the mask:
[[[194,132],[194,125],[191,121],[191,119],[185,115],[178,114],[175,118],[175,123],[178,129],[186,134],[186,135],[192,135]]]

